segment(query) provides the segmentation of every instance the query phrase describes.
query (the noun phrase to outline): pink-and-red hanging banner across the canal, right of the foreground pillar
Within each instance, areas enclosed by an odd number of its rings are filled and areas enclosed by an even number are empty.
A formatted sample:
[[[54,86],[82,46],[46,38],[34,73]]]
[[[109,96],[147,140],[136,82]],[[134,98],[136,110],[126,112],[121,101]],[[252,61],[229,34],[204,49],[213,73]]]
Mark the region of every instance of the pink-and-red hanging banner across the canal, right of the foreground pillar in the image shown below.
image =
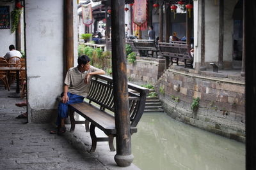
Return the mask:
[[[147,0],[134,0],[133,22],[139,29],[147,29]]]

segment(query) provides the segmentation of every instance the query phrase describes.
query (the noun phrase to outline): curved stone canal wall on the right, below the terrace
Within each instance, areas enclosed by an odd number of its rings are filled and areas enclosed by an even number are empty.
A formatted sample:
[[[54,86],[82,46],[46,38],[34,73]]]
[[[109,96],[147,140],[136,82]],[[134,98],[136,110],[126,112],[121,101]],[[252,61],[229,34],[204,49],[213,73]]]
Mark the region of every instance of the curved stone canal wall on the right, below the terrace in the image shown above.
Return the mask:
[[[244,81],[169,68],[157,82],[164,110],[175,120],[245,141]],[[199,107],[191,110],[193,98]]]

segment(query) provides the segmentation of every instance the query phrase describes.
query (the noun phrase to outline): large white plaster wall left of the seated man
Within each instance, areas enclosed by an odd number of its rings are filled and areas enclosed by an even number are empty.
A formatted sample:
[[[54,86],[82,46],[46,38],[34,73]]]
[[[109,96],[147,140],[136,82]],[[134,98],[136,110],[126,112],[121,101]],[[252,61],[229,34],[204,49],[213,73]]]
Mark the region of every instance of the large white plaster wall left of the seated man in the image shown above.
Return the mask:
[[[62,0],[26,1],[26,46],[28,113],[33,122],[39,114],[49,117],[47,110],[56,108],[63,89]]]

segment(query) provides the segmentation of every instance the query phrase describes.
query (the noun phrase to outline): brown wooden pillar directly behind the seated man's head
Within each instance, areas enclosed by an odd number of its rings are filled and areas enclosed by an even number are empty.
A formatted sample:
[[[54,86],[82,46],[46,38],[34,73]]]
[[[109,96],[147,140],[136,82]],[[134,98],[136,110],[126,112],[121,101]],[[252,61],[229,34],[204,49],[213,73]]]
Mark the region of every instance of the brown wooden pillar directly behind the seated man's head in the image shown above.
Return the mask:
[[[64,0],[64,56],[65,73],[74,67],[73,0]]]

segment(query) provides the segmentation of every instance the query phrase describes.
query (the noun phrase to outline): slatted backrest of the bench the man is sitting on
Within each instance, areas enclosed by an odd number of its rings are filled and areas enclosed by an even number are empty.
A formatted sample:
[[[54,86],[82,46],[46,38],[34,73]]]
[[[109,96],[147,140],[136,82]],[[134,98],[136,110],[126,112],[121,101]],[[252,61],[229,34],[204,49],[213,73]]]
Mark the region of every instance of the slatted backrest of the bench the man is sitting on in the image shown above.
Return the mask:
[[[131,127],[136,127],[145,108],[148,89],[128,83],[129,113]],[[95,75],[90,81],[90,89],[87,99],[100,105],[100,110],[115,111],[113,97],[113,80],[109,76]]]

